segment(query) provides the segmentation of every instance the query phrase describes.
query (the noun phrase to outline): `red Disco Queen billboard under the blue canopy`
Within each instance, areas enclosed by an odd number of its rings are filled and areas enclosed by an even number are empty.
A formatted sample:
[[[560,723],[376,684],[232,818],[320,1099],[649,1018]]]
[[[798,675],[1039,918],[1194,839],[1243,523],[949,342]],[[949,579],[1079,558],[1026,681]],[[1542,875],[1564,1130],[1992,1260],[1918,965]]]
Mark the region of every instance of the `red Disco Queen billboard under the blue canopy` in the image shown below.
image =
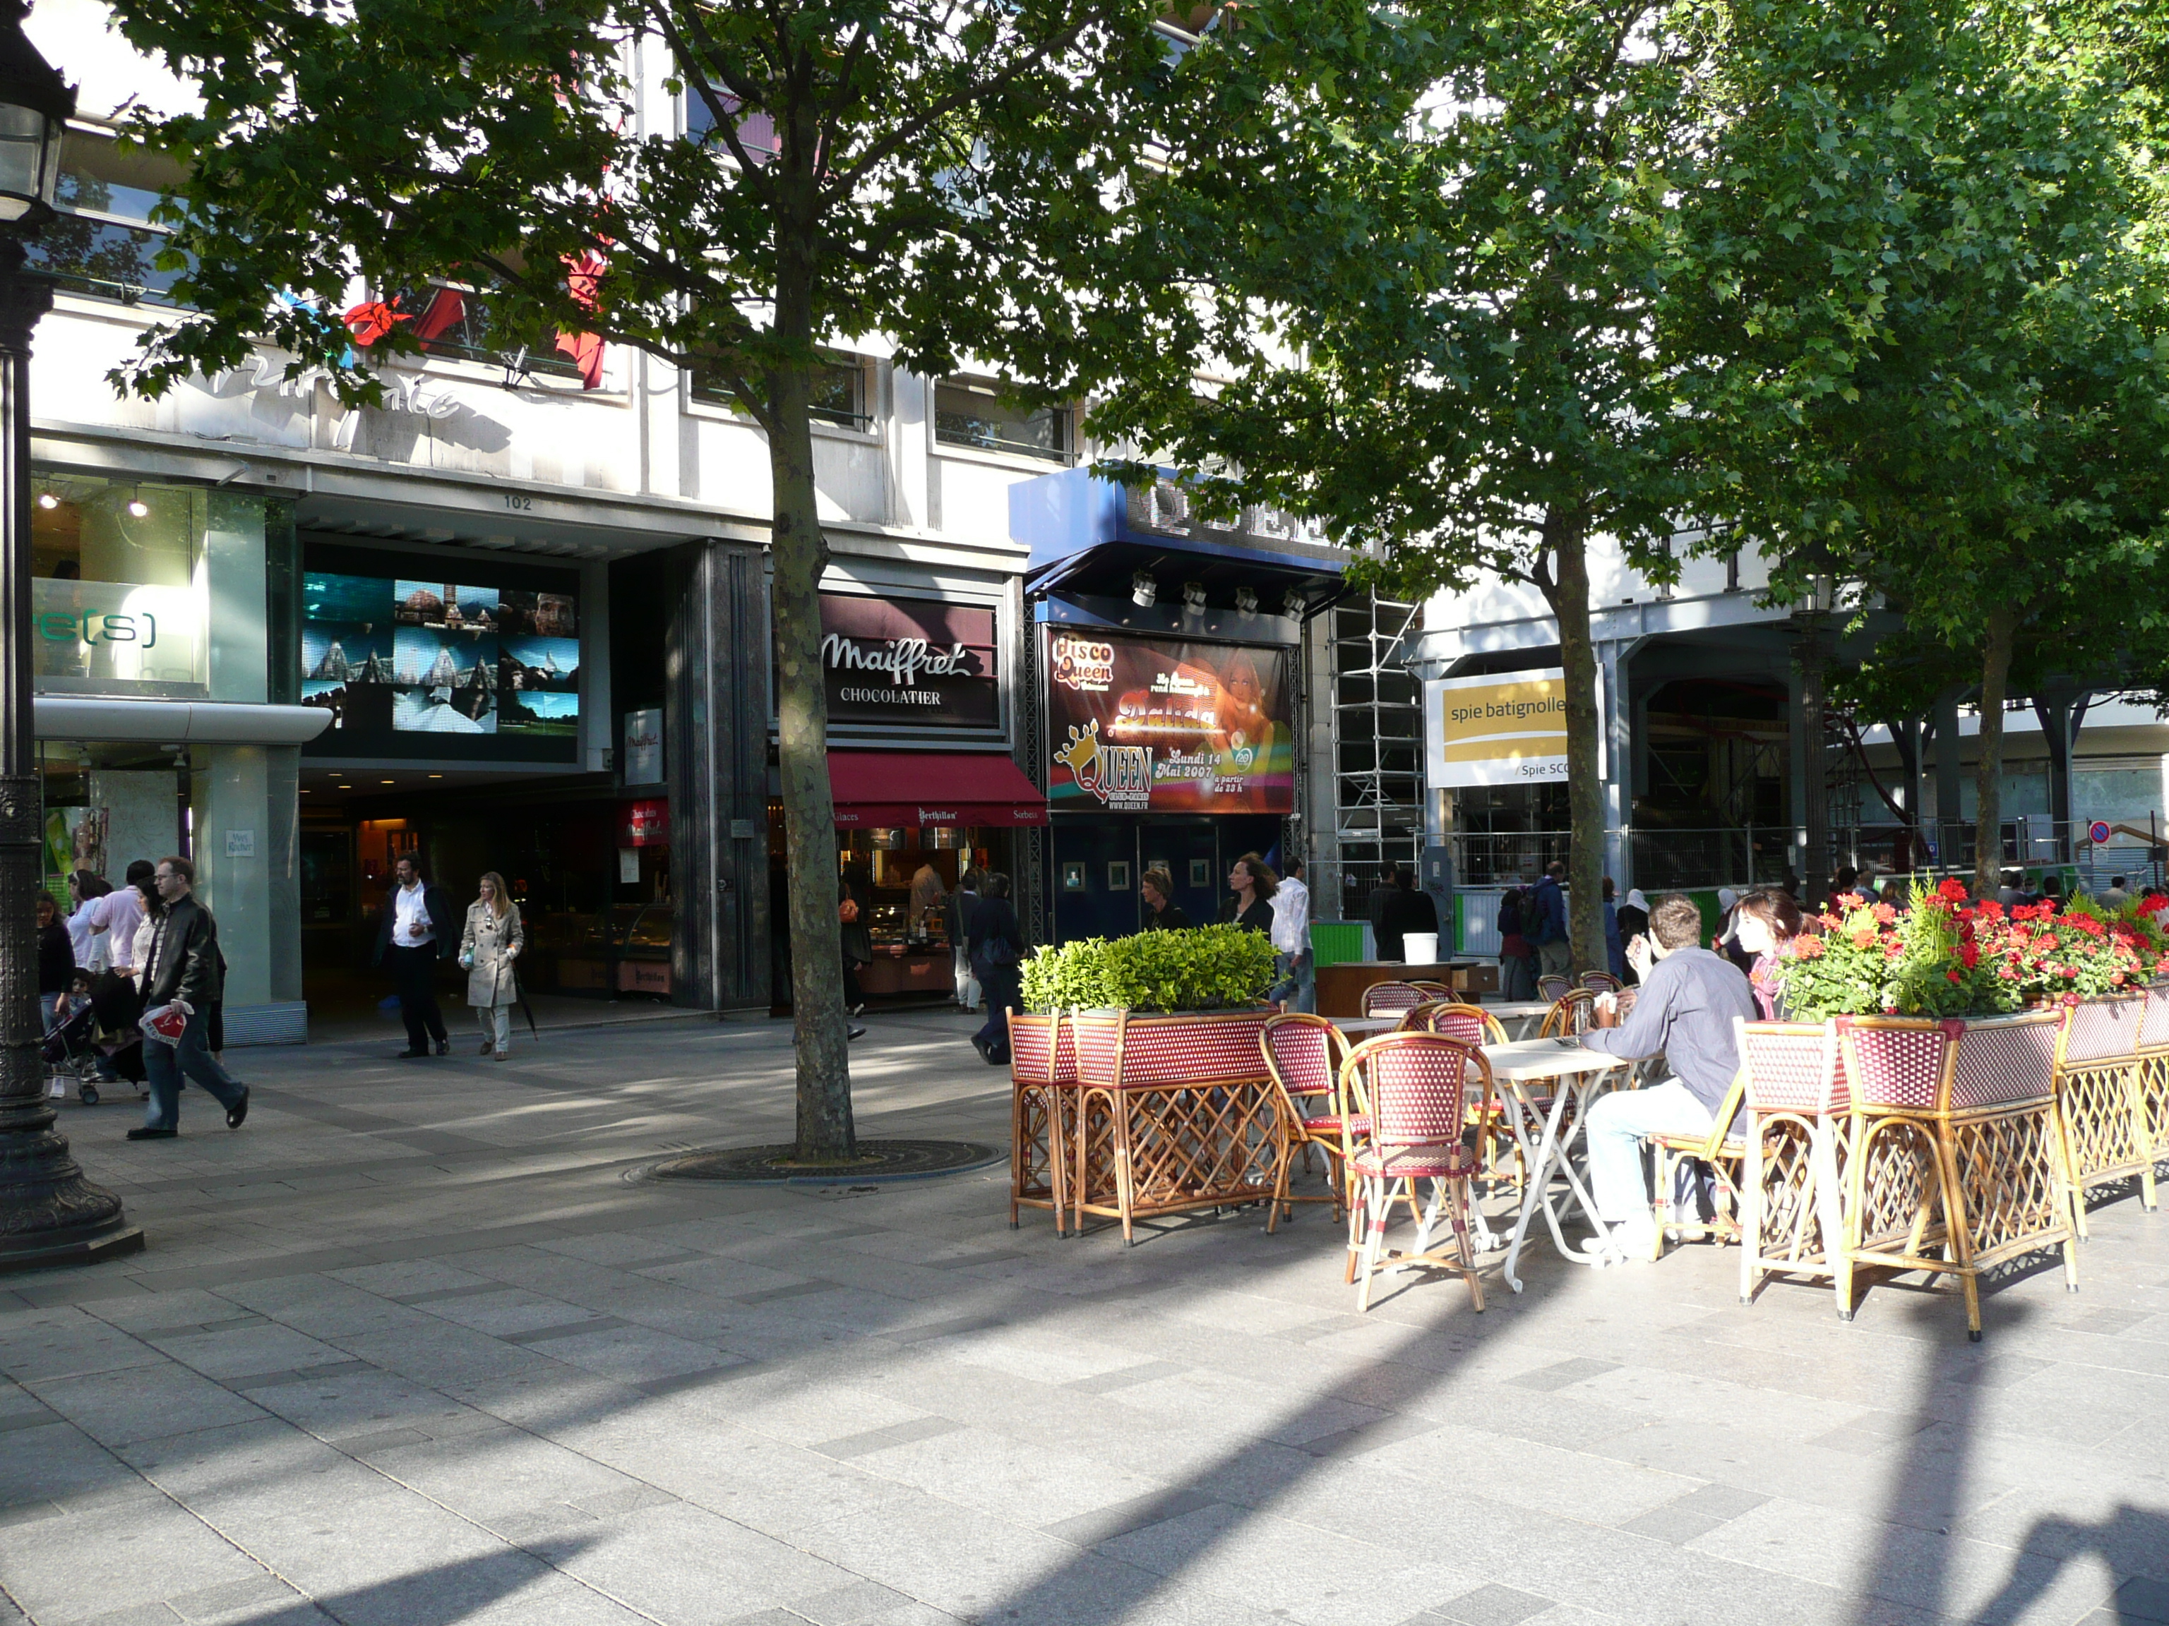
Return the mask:
[[[1286,650],[1048,629],[1056,813],[1293,813]]]

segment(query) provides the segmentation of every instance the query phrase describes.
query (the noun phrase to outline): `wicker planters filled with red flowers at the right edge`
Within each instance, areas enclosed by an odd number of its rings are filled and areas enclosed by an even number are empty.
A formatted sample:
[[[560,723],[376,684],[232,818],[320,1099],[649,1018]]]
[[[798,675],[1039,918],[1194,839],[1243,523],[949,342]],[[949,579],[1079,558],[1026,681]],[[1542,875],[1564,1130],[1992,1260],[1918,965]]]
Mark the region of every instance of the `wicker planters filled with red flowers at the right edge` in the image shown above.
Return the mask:
[[[2139,1177],[2152,1205],[2154,1160],[2169,1147],[2147,1082],[2169,1073],[2169,997],[2149,984],[2169,978],[2169,939],[2162,900],[2149,904],[2004,908],[1946,880],[1915,891],[1904,913],[1865,904],[1809,917],[1809,934],[1787,945],[1774,980],[1794,1019],[1852,1021],[1861,1038],[1848,1051],[1865,1043],[1885,1069],[1909,1045],[1941,1056],[1935,1099],[1920,1101],[1863,1088],[1846,1060],[1841,1309],[1846,1266],[1930,1257],[1928,1242],[1898,1247],[1920,1225],[1941,1238],[1933,1257],[1961,1277],[1978,1335],[1978,1270],[2065,1244],[2084,1225],[2087,1186]],[[2156,1008],[2149,1073],[2141,1045]]]

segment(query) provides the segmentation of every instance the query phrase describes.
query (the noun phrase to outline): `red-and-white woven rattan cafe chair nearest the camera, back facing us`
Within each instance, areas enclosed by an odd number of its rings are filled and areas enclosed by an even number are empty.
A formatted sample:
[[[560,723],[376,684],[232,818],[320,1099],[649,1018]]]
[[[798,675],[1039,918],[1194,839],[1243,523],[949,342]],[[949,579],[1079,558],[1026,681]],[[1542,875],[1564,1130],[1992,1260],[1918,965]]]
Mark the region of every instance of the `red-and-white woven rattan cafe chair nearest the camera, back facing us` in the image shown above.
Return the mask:
[[[1349,1240],[1360,1238],[1356,1309],[1371,1309],[1379,1270],[1451,1270],[1484,1309],[1484,1281],[1471,1242],[1471,1182],[1477,1156],[1462,1145],[1471,1073],[1490,1093],[1490,1064],[1475,1045],[1445,1034],[1379,1034],[1340,1062],[1340,1099],[1349,1119]],[[1360,1127],[1358,1127],[1360,1125]],[[1386,1249],[1386,1223],[1401,1188],[1432,1184],[1432,1201],[1408,1253]],[[1451,1247],[1432,1247],[1445,1221]]]

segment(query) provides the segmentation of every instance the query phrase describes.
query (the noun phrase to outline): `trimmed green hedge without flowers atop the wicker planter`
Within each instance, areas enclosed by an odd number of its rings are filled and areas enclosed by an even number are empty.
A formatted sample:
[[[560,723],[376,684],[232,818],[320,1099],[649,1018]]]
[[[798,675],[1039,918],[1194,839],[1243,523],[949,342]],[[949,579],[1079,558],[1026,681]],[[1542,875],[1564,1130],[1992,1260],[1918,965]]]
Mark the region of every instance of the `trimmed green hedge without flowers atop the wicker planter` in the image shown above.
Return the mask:
[[[1225,1010],[1273,986],[1273,943],[1241,926],[1087,937],[1024,963],[1026,1010]]]

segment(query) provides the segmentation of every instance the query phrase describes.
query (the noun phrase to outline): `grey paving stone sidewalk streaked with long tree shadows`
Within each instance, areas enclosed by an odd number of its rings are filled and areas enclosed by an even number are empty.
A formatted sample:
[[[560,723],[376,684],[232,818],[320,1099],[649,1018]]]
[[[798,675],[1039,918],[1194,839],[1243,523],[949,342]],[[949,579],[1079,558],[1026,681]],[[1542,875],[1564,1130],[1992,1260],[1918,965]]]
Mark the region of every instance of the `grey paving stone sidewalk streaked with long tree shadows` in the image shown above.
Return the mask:
[[[861,1134],[1006,1143],[961,1017]],[[1056,1240],[1006,1169],[683,1188],[781,1023],[241,1051],[228,1134],[63,1110],[150,1251],[0,1279],[0,1622],[2169,1622],[2169,1214],[2084,1290],[1737,1305],[1737,1255],[1395,1277],[1323,1208]],[[462,1045],[464,1049],[464,1045]]]

